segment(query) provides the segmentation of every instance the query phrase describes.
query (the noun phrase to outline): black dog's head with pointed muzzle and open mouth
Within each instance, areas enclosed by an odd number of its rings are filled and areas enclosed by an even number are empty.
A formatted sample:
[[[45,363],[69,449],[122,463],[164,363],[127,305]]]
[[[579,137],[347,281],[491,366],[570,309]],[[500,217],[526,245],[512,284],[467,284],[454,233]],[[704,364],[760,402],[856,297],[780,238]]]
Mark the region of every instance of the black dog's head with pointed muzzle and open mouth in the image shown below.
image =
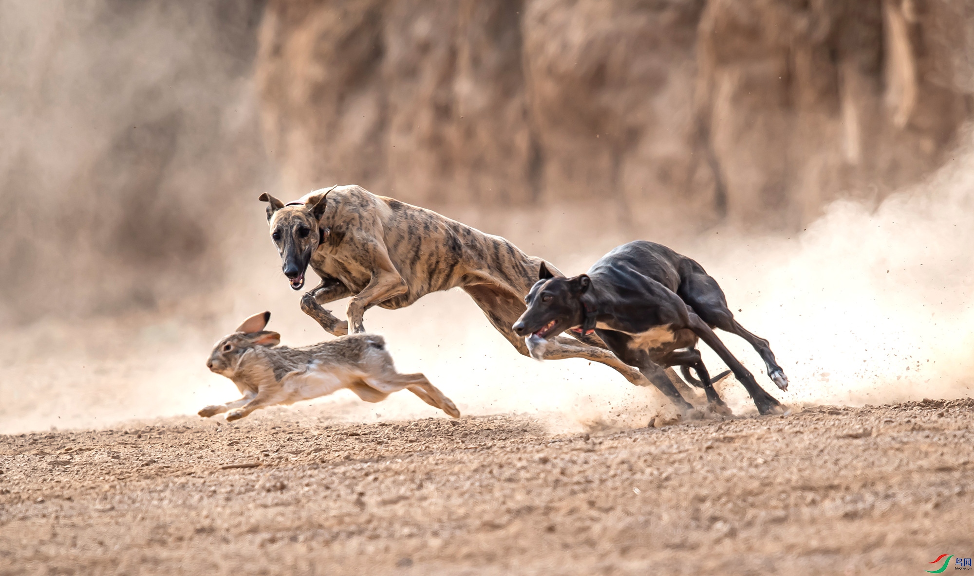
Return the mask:
[[[528,309],[511,328],[518,336],[533,335],[548,340],[580,325],[585,317],[581,296],[590,285],[591,280],[585,274],[563,278],[542,264],[538,281],[524,298]]]

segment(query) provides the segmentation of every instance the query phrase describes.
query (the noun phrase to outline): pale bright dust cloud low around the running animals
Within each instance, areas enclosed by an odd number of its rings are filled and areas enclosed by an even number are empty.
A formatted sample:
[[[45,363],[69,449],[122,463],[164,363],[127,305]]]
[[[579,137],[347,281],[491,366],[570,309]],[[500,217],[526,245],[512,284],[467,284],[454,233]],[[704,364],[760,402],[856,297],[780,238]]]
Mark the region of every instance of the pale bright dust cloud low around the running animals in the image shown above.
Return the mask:
[[[958,151],[955,161],[926,182],[878,206],[835,202],[791,237],[730,229],[695,237],[624,234],[665,239],[718,278],[738,320],[771,342],[791,378],[788,392],[773,387],[745,342],[720,333],[722,340],[792,408],[968,396],[974,385],[972,161],[970,147]],[[489,226],[504,229],[525,250],[569,274],[587,269],[619,241],[561,242],[557,229],[525,233],[510,218],[494,215]],[[505,221],[507,226],[499,224]],[[242,224],[235,242],[245,256],[229,260],[225,285],[203,303],[80,330],[50,323],[25,330],[0,369],[9,400],[0,408],[2,431],[106,426],[194,414],[231,400],[235,387],[206,371],[206,356],[212,342],[262,309],[273,311],[270,327],[284,343],[330,338],[300,311],[298,295],[287,287],[256,201]],[[346,304],[331,307],[341,315]],[[206,322],[199,318],[203,310]],[[425,373],[464,414],[537,414],[571,431],[645,425],[667,410],[656,390],[634,387],[604,366],[583,360],[540,363],[518,355],[459,290],[400,310],[373,308],[365,320],[366,328],[385,335],[400,371]],[[701,347],[711,372],[723,370]],[[733,378],[722,391],[735,413],[754,412]],[[339,392],[310,404],[325,405],[339,419],[438,415],[406,393],[365,404]]]

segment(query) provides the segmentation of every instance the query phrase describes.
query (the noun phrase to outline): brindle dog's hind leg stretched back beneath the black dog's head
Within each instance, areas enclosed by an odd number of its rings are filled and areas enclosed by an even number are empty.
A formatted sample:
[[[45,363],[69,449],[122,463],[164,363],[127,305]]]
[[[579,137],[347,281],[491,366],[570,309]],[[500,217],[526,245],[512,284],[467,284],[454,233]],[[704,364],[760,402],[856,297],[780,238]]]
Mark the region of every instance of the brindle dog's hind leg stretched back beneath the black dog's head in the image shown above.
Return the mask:
[[[517,351],[525,356],[530,356],[527,344],[524,339],[514,334],[510,327],[517,321],[517,318],[524,312],[525,307],[521,299],[517,298],[504,288],[489,284],[475,284],[465,286],[464,290],[473,299],[473,302],[480,306],[480,309],[487,315],[487,319],[504,335],[507,342],[510,342]],[[601,342],[601,341],[600,341]],[[615,354],[605,348],[597,348],[574,339],[557,337],[548,341],[544,349],[545,360],[560,360],[562,358],[584,358],[599,364],[605,364],[615,369],[622,378],[637,386],[648,386],[650,381],[638,370],[619,360]]]

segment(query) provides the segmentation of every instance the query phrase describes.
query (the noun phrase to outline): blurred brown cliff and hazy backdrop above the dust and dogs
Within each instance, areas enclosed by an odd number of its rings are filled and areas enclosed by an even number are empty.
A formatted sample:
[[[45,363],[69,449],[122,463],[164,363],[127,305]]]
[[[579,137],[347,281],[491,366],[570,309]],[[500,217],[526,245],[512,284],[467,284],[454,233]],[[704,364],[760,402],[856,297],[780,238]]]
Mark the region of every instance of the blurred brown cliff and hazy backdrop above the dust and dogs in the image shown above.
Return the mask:
[[[205,292],[262,190],[793,231],[949,160],[972,93],[957,0],[3,3],[0,317]]]

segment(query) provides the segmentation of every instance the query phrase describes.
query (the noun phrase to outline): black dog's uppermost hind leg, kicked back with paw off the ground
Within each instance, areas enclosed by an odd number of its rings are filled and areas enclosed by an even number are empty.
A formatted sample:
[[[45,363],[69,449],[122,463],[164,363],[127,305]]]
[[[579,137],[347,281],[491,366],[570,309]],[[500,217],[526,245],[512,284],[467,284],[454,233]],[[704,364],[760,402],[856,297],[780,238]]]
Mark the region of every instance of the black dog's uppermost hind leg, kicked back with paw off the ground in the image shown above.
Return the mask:
[[[771,378],[782,390],[787,390],[788,377],[785,376],[784,370],[775,361],[774,352],[771,351],[768,341],[748,332],[734,320],[733,312],[728,307],[724,291],[717,284],[717,280],[702,270],[686,274],[677,294],[684,302],[693,307],[693,311],[704,322],[725,332],[736,334],[754,346],[754,349],[761,355],[761,359],[765,361],[765,366],[768,367],[768,378]]]

